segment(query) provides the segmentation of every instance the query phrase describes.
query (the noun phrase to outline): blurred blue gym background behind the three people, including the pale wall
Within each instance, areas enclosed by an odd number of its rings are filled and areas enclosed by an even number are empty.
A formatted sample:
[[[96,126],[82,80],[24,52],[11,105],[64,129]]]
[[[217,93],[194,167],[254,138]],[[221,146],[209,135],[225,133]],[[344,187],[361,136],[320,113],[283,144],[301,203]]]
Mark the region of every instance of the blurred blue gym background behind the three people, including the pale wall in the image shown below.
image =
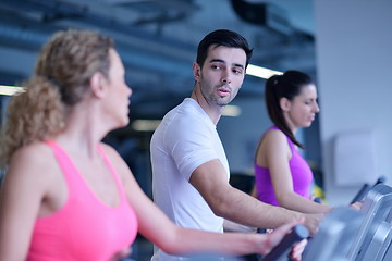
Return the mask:
[[[236,30],[254,48],[252,64],[316,80],[320,113],[298,139],[326,200],[347,204],[364,183],[392,179],[391,13],[390,0],[1,0],[0,85],[26,79],[57,30],[113,37],[134,92],[130,125],[105,141],[151,196],[149,140],[160,119],[191,95],[197,44],[215,29]],[[218,124],[232,181],[245,189],[256,145],[271,124],[264,84],[247,75]],[[0,122],[9,99],[0,95]],[[149,260],[150,245],[134,251]]]

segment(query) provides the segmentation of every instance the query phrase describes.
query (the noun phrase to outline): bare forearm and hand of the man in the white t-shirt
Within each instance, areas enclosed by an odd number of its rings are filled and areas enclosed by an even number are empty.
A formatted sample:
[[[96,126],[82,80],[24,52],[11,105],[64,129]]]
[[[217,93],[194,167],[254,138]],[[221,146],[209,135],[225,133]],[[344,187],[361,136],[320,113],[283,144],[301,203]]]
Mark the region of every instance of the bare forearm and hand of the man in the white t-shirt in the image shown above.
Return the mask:
[[[322,217],[321,214],[303,214],[266,204],[232,187],[218,159],[198,166],[192,173],[189,183],[200,192],[216,215],[247,226],[277,228],[304,216],[305,225],[314,233]]]

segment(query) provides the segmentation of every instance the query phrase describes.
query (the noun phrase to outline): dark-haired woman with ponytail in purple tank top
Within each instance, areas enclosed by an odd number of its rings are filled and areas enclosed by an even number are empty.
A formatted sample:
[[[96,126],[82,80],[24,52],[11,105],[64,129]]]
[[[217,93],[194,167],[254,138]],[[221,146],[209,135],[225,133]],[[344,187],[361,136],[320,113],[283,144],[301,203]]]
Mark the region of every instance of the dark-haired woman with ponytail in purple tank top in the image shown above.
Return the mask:
[[[313,173],[297,147],[301,127],[309,127],[319,112],[317,90],[311,78],[297,71],[274,75],[266,83],[266,104],[274,126],[262,135],[255,159],[259,200],[304,213],[326,213],[327,204],[310,200]]]

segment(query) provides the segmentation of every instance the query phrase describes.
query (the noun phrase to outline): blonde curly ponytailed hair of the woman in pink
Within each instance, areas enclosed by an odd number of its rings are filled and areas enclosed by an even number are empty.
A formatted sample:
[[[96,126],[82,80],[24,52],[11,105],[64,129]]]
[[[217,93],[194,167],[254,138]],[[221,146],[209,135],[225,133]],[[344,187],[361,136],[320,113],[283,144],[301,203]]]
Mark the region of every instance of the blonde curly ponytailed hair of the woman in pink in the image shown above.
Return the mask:
[[[94,73],[109,74],[113,40],[96,32],[56,33],[44,46],[26,91],[10,100],[0,140],[0,167],[22,146],[50,139],[65,127],[66,112],[89,91]]]

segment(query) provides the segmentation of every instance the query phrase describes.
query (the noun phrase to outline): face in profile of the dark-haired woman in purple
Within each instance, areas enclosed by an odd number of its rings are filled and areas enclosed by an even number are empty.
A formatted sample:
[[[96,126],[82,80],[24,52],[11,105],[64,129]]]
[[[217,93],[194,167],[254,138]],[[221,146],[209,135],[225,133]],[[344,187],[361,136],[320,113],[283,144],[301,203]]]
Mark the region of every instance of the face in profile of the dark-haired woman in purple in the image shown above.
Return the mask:
[[[302,87],[298,96],[286,100],[283,114],[293,132],[298,127],[310,127],[316,113],[319,112],[317,103],[317,89],[314,84]]]

